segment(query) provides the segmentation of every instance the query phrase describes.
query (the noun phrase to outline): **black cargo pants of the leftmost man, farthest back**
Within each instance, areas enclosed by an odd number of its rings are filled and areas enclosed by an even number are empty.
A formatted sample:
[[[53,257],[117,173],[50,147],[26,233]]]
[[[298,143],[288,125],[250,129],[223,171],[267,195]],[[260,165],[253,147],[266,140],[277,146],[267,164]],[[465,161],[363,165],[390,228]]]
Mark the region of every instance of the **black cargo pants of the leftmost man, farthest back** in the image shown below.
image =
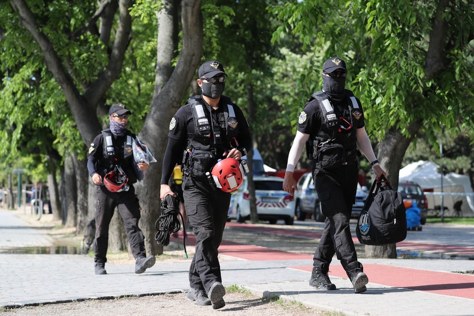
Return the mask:
[[[145,257],[145,238],[138,227],[140,206],[138,198],[135,197],[135,188],[130,185],[129,191],[110,192],[104,185],[99,185],[96,195],[94,261],[107,262],[108,226],[115,207],[124,219],[125,231],[133,257]]]

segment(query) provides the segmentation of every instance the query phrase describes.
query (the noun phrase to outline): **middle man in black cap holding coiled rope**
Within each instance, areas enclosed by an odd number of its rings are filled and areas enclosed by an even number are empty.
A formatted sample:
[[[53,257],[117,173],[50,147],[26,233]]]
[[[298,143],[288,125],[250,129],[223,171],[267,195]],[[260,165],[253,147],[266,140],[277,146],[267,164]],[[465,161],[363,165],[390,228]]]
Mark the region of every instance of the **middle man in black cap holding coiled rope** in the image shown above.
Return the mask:
[[[196,251],[189,268],[191,289],[187,296],[198,305],[219,309],[225,306],[222,298],[225,289],[217,248],[222,241],[231,196],[217,189],[206,172],[211,172],[217,159],[242,158],[252,148],[252,140],[240,108],[222,96],[227,76],[222,64],[208,60],[199,67],[198,75],[202,94],[188,99],[170,122],[160,197],[176,196],[168,181],[174,165],[181,164],[186,215],[196,237]]]

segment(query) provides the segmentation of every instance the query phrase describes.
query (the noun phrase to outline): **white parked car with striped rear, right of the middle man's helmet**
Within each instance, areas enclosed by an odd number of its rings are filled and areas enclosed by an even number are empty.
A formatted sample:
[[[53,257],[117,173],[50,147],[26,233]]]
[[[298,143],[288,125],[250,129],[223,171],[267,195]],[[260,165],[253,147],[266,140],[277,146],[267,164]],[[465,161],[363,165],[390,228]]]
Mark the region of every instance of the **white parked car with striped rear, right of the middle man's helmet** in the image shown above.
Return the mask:
[[[286,225],[293,225],[295,201],[293,196],[283,191],[283,179],[256,175],[253,179],[259,220],[268,220],[270,224],[275,224],[277,220],[283,219]],[[228,216],[228,219],[235,218],[239,223],[250,218],[247,177],[244,177],[242,186],[235,194],[232,210],[229,210]]]

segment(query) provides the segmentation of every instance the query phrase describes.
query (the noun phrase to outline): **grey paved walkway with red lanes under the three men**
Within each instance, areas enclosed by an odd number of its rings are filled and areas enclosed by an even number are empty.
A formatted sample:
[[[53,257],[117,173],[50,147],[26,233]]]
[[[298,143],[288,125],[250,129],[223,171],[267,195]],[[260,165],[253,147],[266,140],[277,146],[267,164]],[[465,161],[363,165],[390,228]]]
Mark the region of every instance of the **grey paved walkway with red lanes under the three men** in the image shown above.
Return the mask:
[[[268,230],[268,234],[307,234],[302,230],[228,223],[229,229]],[[446,226],[447,228],[450,228]],[[474,232],[457,229],[462,240],[442,237],[442,230],[425,229],[406,240],[403,247],[423,245],[453,253],[474,251]],[[466,231],[466,232],[465,232]],[[21,239],[18,234],[22,235]],[[464,235],[466,234],[466,235]],[[469,236],[469,240],[464,238]],[[225,235],[224,235],[225,237]],[[283,236],[284,237],[284,236]],[[307,236],[317,238],[317,236]],[[418,242],[416,238],[422,238]],[[409,239],[409,238],[407,238]],[[46,232],[28,228],[11,212],[0,210],[0,249],[12,244],[50,245]],[[440,244],[436,241],[441,240]],[[31,243],[31,244],[29,244]],[[187,245],[193,244],[193,237]],[[400,243],[402,246],[402,243]],[[20,244],[19,244],[20,246]],[[420,246],[421,247],[421,246]],[[400,247],[397,247],[400,248]],[[408,250],[407,248],[407,250]],[[431,251],[431,250],[425,250]],[[224,240],[219,248],[224,286],[245,287],[260,296],[279,295],[308,306],[345,315],[474,315],[474,275],[453,272],[474,270],[468,259],[361,259],[369,277],[364,294],[353,293],[338,260],[331,264],[330,277],[337,291],[320,291],[308,285],[312,256],[242,245]],[[459,257],[459,256],[458,256]],[[469,256],[468,256],[469,257]],[[0,254],[0,307],[65,302],[74,299],[173,293],[188,290],[189,262],[159,263],[141,275],[132,265],[107,264],[108,275],[93,274],[91,258],[85,255]],[[97,283],[100,281],[101,286]],[[225,312],[225,308],[222,309]],[[190,311],[192,315],[192,311]]]

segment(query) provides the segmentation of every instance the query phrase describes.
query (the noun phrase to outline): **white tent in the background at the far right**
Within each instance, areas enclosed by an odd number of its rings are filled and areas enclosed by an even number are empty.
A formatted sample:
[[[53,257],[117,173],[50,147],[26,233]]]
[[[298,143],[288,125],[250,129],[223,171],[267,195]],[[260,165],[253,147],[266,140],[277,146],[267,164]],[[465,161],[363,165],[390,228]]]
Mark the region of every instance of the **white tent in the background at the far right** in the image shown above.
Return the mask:
[[[412,162],[400,169],[399,182],[413,181],[420,185],[424,191],[441,192],[441,173],[439,166],[431,161]],[[447,193],[472,193],[471,181],[468,176],[449,173],[443,176],[443,192]],[[441,196],[428,195],[428,208],[433,209],[435,205],[441,205]],[[444,196],[443,204],[452,210],[452,205],[462,199],[461,210],[463,214],[474,212],[472,196]]]

